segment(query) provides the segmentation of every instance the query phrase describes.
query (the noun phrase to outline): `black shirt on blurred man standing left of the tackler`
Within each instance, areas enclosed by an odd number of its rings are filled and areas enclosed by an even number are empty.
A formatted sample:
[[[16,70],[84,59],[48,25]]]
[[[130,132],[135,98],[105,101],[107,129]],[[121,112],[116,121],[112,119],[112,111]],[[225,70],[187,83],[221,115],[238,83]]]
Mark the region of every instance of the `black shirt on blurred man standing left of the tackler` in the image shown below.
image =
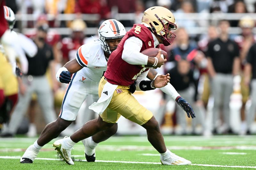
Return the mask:
[[[28,59],[28,75],[43,76],[51,60],[53,60],[52,47],[44,43],[43,48],[38,48],[34,57]]]

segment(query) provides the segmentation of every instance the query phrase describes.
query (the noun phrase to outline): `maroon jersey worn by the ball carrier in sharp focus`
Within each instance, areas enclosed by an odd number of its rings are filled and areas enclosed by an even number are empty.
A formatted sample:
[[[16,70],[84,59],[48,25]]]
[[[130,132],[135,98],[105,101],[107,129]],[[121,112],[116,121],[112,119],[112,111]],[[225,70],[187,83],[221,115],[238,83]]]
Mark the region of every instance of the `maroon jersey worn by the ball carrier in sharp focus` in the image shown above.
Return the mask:
[[[132,65],[127,63],[122,59],[122,53],[124,50],[124,42],[129,37],[137,37],[142,41],[143,51],[148,48],[154,48],[154,40],[149,29],[142,24],[134,24],[132,29],[130,29],[118,44],[118,47],[113,51],[108,59],[107,71],[104,76],[107,78],[108,82],[114,85],[132,85],[142,72],[148,69],[143,68],[139,65]]]

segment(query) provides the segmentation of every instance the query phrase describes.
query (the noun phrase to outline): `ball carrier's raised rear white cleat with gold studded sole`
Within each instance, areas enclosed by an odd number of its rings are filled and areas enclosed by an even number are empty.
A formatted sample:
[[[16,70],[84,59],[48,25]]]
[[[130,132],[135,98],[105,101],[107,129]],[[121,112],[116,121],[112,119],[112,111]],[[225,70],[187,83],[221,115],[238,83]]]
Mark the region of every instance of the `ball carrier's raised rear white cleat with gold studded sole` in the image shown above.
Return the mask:
[[[66,137],[64,137],[64,138],[66,138]],[[57,152],[60,154],[62,159],[66,161],[67,164],[74,165],[74,162],[71,159],[71,150],[73,148],[66,148],[65,144],[63,143],[63,139],[59,139],[59,140],[55,141],[53,143],[53,147],[55,150],[57,150]]]

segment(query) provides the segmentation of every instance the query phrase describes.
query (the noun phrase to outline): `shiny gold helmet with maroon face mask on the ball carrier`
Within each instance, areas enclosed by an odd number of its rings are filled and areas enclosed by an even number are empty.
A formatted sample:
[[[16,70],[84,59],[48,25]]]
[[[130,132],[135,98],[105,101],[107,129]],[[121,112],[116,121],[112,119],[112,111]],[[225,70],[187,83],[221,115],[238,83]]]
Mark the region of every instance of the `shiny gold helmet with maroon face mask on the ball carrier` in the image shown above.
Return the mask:
[[[161,36],[164,46],[172,44],[176,35],[172,30],[177,29],[172,12],[162,6],[153,6],[143,13],[142,23],[146,23],[153,33]]]

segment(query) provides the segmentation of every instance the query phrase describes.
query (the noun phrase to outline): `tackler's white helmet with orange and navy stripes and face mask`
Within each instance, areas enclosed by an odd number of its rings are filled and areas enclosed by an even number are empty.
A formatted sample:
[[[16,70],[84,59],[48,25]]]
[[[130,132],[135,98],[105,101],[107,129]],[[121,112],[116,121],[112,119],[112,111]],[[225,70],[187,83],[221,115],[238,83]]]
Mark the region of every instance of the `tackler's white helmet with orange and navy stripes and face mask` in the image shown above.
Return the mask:
[[[112,51],[110,50],[108,41],[123,38],[126,31],[123,24],[121,24],[119,21],[116,19],[108,19],[101,24],[98,33],[101,47],[105,52],[111,54]]]

